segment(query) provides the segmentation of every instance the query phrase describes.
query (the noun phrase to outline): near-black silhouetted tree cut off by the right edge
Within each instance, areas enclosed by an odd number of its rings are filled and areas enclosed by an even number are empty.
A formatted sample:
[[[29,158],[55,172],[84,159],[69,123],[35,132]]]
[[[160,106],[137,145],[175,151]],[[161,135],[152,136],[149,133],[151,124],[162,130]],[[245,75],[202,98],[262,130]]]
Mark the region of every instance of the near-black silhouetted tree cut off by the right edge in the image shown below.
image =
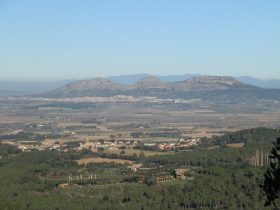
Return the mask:
[[[270,165],[264,174],[264,183],[261,186],[266,195],[266,206],[273,204],[275,208],[279,206],[280,195],[280,138],[273,143],[271,150]]]

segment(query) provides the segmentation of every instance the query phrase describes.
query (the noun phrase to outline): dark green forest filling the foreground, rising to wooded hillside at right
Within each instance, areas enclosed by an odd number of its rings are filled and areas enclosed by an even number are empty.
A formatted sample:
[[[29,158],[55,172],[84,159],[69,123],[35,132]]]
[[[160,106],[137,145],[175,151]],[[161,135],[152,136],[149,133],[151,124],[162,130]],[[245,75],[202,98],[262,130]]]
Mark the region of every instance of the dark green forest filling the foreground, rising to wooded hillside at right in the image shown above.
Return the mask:
[[[209,139],[188,152],[158,156],[58,151],[21,152],[0,144],[0,209],[248,209],[264,210],[265,196],[260,185],[266,167],[251,165],[256,150],[269,151],[279,130],[249,129]],[[275,138],[275,139],[273,139]],[[228,143],[244,142],[242,148]],[[209,150],[209,145],[219,148]],[[78,166],[86,157],[133,158],[155,168],[133,172],[126,165],[96,163]],[[190,178],[156,183],[153,174],[191,168]],[[69,188],[59,188],[68,182]],[[76,179],[83,174],[93,179]]]

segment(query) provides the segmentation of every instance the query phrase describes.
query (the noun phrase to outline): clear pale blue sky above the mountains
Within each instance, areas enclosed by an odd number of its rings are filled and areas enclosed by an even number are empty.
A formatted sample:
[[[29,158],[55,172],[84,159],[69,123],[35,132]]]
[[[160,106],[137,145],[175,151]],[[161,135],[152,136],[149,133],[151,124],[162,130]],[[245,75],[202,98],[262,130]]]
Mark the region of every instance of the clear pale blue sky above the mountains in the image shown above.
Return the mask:
[[[0,0],[0,80],[280,79],[279,0]]]

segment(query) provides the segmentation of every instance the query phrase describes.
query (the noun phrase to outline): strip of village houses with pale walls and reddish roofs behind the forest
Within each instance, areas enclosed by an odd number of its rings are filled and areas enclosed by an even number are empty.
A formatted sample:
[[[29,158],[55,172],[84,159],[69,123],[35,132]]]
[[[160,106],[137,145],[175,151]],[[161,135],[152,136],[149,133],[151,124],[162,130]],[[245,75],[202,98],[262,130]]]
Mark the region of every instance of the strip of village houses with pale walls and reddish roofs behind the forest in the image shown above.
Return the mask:
[[[2,143],[17,146],[20,150],[28,152],[30,150],[56,150],[61,152],[91,150],[93,152],[114,152],[125,151],[130,152],[143,151],[157,151],[157,152],[175,152],[192,148],[199,143],[199,138],[196,139],[178,139],[176,142],[151,142],[143,143],[140,140],[53,140],[50,141],[8,141],[4,140]]]

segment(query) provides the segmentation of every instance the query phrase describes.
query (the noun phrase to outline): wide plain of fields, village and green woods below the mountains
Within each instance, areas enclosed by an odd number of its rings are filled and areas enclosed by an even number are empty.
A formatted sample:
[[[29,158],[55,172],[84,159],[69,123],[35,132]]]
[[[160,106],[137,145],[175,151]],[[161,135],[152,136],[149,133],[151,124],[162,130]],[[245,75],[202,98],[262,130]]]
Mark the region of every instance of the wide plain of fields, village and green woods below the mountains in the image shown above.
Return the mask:
[[[10,209],[255,210],[267,166],[256,160],[280,136],[277,105],[1,103],[0,195]]]

